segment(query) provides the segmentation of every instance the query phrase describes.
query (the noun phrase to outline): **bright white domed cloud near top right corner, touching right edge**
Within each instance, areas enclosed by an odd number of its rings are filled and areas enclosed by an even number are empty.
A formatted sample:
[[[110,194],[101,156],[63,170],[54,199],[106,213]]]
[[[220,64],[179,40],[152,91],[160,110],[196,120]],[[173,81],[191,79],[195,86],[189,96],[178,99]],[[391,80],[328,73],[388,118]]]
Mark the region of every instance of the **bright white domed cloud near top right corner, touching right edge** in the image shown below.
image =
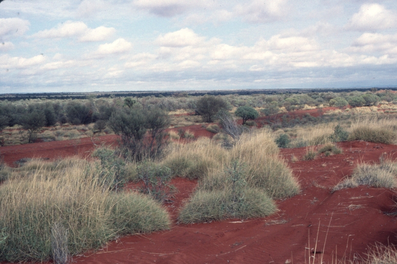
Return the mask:
[[[368,31],[397,26],[396,15],[377,3],[363,4],[358,13],[346,24],[346,29]]]

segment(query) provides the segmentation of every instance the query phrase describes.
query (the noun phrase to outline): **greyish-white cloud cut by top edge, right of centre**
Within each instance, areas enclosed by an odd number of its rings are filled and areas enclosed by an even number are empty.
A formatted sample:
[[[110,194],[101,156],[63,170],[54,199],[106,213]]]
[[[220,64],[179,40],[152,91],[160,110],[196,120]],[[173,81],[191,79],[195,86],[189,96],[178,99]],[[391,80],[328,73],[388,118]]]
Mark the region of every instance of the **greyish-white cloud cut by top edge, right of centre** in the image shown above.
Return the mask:
[[[247,22],[264,23],[281,19],[288,11],[288,0],[252,0],[237,5],[235,12]]]

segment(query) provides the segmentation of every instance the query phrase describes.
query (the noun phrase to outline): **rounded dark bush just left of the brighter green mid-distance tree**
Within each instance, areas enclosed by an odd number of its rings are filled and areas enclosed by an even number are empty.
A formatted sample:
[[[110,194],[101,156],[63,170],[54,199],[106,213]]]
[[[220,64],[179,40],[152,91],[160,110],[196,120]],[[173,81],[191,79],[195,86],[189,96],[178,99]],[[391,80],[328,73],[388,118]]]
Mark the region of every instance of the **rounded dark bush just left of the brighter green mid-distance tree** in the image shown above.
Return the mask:
[[[204,95],[196,102],[196,111],[201,115],[204,122],[211,123],[222,109],[229,109],[228,103],[221,97]]]

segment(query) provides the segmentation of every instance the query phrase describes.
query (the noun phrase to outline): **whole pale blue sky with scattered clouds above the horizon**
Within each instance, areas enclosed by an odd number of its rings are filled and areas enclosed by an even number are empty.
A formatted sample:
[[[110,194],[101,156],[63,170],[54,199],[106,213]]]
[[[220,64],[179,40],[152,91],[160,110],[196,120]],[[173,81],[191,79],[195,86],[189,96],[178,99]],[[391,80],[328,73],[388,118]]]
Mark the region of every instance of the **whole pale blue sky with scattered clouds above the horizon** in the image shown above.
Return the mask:
[[[396,0],[3,0],[0,93],[397,87]]]

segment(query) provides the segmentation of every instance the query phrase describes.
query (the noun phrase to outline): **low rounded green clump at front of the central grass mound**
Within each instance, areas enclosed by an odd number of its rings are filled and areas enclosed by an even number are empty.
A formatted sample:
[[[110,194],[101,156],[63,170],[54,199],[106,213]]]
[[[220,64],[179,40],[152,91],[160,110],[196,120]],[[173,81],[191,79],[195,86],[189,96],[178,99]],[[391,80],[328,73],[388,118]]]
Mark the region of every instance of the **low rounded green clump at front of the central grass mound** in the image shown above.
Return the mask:
[[[197,191],[179,214],[182,223],[206,222],[228,218],[265,217],[273,214],[276,206],[266,193],[246,187],[234,201],[230,189]]]

